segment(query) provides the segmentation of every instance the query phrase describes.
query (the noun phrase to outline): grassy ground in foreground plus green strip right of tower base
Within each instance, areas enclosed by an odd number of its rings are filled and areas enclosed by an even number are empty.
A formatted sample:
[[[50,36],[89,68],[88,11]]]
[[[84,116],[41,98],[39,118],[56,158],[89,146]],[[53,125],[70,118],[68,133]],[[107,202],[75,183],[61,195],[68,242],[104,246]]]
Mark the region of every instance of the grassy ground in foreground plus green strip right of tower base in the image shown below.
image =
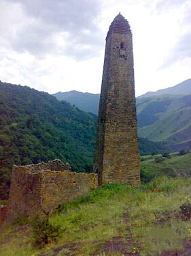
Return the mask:
[[[190,173],[190,154],[159,164],[145,158],[142,167],[184,167]],[[52,225],[62,227],[57,244],[37,250],[32,246],[31,227],[12,226],[1,236],[0,255],[172,255],[175,251],[189,255],[191,226],[181,218],[179,207],[191,203],[190,195],[191,178],[162,176],[136,188],[103,186],[63,205],[62,211],[50,217]]]

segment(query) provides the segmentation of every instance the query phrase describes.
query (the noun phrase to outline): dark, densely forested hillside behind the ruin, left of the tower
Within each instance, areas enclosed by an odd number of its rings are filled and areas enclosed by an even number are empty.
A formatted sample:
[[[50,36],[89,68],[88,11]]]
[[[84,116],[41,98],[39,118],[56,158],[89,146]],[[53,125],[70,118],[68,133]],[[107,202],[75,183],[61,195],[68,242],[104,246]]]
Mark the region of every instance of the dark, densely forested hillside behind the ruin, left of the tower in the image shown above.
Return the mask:
[[[0,198],[12,165],[59,158],[92,171],[97,117],[29,87],[0,83]]]

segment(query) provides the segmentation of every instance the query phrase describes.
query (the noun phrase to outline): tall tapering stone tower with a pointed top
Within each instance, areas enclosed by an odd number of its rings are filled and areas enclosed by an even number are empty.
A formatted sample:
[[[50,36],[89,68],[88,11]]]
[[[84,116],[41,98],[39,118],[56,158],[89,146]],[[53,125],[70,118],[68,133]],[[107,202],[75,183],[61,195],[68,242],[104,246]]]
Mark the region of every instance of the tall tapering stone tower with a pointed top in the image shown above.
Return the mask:
[[[132,33],[121,14],[106,37],[94,170],[99,185],[140,182]]]

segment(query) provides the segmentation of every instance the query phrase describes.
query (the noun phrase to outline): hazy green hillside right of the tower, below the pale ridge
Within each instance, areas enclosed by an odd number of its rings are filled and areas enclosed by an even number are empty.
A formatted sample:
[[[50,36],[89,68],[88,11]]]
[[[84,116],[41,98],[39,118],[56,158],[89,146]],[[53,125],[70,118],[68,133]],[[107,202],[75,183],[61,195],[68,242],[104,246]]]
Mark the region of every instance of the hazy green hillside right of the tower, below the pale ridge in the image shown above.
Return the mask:
[[[191,95],[137,99],[139,136],[165,141],[172,150],[191,147]]]

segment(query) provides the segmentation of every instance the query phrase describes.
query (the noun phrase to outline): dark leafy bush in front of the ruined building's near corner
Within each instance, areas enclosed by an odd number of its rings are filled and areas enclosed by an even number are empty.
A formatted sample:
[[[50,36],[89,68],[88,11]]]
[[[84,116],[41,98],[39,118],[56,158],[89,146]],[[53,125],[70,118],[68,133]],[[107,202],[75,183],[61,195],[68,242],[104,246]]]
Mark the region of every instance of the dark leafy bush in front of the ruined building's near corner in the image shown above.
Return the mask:
[[[33,242],[37,248],[43,248],[50,242],[55,242],[60,236],[60,226],[54,227],[48,217],[33,218]]]

